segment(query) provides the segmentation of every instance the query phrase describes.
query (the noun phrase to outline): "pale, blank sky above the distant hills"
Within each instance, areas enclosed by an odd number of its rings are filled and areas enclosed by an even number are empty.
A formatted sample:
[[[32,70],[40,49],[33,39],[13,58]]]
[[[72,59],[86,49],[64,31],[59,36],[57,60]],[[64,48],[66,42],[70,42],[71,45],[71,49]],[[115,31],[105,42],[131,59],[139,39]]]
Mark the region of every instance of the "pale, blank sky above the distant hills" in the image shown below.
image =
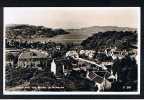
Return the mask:
[[[49,28],[119,26],[137,28],[138,7],[5,7],[4,24]]]

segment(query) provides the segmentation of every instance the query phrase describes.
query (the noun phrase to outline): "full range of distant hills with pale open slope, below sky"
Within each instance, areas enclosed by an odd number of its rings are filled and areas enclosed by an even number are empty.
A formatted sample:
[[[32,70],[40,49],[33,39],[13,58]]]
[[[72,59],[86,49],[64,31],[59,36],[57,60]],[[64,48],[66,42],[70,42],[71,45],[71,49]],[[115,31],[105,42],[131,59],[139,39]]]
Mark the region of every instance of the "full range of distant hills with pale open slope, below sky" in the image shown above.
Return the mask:
[[[92,26],[80,29],[52,29],[44,26],[33,25],[8,25],[6,28],[7,38],[22,38],[31,41],[54,41],[81,43],[83,40],[98,32],[106,31],[136,31],[135,28],[116,26]],[[17,35],[18,34],[18,35]]]

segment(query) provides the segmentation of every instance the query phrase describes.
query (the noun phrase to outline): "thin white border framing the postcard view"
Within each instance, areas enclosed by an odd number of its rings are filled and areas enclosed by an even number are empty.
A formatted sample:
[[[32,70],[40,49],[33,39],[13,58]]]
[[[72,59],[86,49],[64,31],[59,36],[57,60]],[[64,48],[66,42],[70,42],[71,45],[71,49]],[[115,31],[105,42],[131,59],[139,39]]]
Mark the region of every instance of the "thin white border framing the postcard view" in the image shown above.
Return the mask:
[[[5,7],[4,7],[5,8]],[[7,7],[6,7],[7,8]],[[51,7],[52,8],[52,7]],[[54,7],[57,8],[57,7]],[[66,8],[66,7],[65,7]],[[75,7],[74,7],[75,8]],[[77,7],[78,8],[78,7]],[[80,7],[79,7],[80,8]],[[91,8],[91,7],[88,7]],[[94,7],[93,7],[94,8]],[[103,7],[98,7],[98,8],[103,8]],[[114,7],[110,7],[114,8]],[[121,7],[123,8],[123,7]],[[46,92],[46,91],[6,91],[5,90],[5,23],[3,25],[3,94],[4,95],[140,95],[140,7],[132,7],[137,9],[137,15],[138,15],[138,26],[137,26],[137,31],[138,31],[138,90],[136,92]],[[4,10],[3,10],[4,12]],[[4,17],[3,17],[4,18]]]

